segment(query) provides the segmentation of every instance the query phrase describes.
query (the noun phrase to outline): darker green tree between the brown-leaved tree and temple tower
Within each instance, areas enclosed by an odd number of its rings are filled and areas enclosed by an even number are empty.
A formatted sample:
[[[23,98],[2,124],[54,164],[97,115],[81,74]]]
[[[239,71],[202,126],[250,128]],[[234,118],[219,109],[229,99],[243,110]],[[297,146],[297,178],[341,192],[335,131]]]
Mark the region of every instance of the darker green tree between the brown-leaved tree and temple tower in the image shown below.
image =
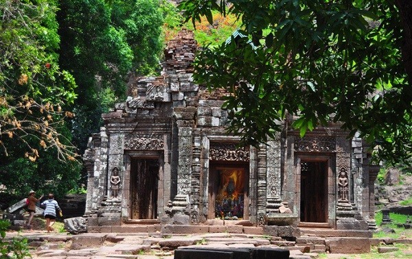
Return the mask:
[[[71,130],[80,153],[100,130],[101,114],[125,98],[129,73],[156,70],[162,19],[155,0],[60,2],[60,64],[78,84]]]

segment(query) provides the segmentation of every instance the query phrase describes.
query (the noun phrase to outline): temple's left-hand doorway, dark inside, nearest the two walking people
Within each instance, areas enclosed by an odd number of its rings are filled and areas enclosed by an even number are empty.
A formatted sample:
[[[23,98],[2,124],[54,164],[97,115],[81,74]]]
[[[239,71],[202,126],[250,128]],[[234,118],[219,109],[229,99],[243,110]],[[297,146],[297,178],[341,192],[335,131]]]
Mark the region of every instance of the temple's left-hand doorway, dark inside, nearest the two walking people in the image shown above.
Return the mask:
[[[130,219],[157,219],[159,160],[134,158],[130,161]]]

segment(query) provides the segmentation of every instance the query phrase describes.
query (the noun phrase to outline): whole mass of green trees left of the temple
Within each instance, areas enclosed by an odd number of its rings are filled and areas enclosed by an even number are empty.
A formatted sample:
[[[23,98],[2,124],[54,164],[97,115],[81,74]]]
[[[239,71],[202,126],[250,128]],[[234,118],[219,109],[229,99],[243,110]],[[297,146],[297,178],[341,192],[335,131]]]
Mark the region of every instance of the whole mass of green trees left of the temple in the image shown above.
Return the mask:
[[[0,14],[0,184],[15,197],[61,197],[85,183],[76,153],[124,99],[130,73],[159,70],[163,10],[156,0],[0,0]]]

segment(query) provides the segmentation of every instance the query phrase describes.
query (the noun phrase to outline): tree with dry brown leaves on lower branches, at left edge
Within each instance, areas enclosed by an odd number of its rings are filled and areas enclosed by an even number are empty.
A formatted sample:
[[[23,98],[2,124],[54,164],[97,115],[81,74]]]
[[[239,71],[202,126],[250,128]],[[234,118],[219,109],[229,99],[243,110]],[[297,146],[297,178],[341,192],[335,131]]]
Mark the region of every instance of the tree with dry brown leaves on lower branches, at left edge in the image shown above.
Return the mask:
[[[71,112],[76,84],[58,65],[56,1],[0,1],[0,151],[22,145],[34,161],[39,149],[74,160],[70,138],[60,133]]]

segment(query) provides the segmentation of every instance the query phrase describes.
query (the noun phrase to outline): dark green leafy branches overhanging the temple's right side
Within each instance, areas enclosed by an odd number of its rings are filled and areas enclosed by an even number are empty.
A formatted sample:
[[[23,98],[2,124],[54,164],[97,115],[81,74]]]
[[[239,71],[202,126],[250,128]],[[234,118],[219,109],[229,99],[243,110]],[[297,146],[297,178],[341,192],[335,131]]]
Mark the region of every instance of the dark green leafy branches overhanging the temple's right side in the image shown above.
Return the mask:
[[[301,136],[341,122],[379,159],[411,158],[408,1],[186,0],[179,8],[193,22],[213,24],[214,11],[241,21],[240,37],[198,54],[194,79],[232,93],[228,130],[244,143],[273,137],[292,115]]]

